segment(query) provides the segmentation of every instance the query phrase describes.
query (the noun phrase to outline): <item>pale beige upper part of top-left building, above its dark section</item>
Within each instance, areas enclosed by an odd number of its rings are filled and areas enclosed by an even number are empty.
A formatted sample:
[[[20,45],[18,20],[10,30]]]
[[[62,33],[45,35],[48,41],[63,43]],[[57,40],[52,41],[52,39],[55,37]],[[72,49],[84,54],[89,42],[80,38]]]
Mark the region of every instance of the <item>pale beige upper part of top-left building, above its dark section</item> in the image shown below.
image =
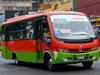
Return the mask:
[[[33,10],[39,8],[39,0],[0,0],[0,12],[4,10]]]

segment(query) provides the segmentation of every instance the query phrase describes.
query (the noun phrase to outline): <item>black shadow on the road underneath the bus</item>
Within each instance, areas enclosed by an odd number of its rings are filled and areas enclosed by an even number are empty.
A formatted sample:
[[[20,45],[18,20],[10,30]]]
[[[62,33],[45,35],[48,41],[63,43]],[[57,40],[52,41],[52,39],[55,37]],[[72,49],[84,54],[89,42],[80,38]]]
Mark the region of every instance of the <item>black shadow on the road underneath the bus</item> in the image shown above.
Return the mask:
[[[15,65],[15,66],[22,66],[22,67],[28,67],[32,69],[38,69],[38,70],[45,70],[49,71],[44,64],[36,64],[36,63],[23,63],[21,65],[16,65],[14,63],[9,63],[8,65]],[[73,65],[73,64],[68,64],[68,65],[57,65],[56,70],[54,72],[72,72],[72,71],[83,71],[83,70],[91,70],[90,69],[85,69],[82,65]]]

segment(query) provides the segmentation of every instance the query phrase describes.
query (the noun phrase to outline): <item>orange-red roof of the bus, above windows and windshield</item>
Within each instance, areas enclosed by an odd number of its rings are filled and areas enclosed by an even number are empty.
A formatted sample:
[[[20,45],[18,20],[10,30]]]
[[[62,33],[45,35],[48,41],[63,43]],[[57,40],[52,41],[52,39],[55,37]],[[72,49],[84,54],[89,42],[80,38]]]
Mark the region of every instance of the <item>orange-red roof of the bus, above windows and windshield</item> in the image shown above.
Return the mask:
[[[19,22],[19,21],[23,21],[23,20],[27,20],[27,19],[32,19],[32,18],[39,17],[39,16],[54,15],[54,14],[85,15],[84,13],[73,12],[73,11],[51,11],[51,12],[39,13],[39,14],[35,14],[35,15],[24,15],[24,16],[19,16],[19,17],[16,17],[16,18],[11,18],[11,19],[8,19],[6,22],[4,22],[3,25],[15,23],[15,22]]]

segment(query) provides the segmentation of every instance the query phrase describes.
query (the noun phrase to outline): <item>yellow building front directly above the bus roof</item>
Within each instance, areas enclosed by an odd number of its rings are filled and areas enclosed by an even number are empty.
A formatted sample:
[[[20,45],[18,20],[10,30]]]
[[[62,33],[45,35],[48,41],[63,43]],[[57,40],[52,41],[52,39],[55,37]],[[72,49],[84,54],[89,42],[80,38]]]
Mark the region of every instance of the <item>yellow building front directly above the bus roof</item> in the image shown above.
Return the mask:
[[[76,0],[44,0],[41,12],[47,11],[72,11],[75,9]]]

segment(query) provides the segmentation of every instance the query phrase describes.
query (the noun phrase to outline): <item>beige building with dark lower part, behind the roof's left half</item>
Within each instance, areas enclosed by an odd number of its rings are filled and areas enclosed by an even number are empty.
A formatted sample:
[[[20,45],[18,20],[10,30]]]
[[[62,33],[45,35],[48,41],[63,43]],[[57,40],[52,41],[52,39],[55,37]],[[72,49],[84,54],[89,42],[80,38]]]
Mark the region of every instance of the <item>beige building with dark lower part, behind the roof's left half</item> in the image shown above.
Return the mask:
[[[20,16],[30,11],[37,12],[39,8],[39,0],[0,0],[0,13],[4,14],[5,20],[17,14]]]

